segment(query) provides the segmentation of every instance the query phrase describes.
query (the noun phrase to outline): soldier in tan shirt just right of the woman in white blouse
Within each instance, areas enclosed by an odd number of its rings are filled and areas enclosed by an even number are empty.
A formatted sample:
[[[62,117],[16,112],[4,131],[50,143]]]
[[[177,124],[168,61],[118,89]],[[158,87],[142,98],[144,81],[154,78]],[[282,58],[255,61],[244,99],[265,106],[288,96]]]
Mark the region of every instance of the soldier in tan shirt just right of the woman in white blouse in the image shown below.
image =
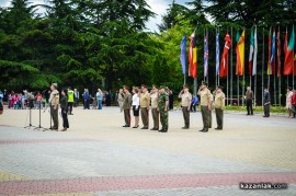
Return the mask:
[[[143,122],[141,129],[148,129],[149,127],[149,103],[150,103],[150,95],[147,91],[147,85],[141,85],[141,93],[140,93],[140,117]]]

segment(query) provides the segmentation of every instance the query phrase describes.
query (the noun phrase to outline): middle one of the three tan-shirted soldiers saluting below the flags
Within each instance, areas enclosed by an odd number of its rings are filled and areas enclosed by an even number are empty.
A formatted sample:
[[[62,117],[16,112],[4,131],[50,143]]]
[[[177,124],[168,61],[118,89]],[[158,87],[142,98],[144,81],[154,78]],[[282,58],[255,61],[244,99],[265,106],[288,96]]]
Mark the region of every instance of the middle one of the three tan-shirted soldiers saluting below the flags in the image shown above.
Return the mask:
[[[203,116],[204,127],[202,132],[207,132],[209,128],[209,111],[212,109],[210,92],[207,89],[207,83],[202,82],[202,85],[198,90],[198,95],[201,96],[201,112]]]

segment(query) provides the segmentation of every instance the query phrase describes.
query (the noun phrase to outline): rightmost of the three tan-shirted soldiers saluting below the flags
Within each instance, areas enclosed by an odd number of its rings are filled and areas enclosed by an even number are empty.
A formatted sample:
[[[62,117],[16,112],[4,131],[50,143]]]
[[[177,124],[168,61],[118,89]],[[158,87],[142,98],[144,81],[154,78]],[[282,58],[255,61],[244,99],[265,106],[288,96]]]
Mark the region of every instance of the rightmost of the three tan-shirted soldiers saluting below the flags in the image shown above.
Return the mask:
[[[223,93],[223,88],[220,85],[213,92],[215,96],[215,113],[216,113],[216,120],[217,120],[217,128],[216,130],[223,130],[223,116],[224,116],[224,108],[225,108],[225,94]]]

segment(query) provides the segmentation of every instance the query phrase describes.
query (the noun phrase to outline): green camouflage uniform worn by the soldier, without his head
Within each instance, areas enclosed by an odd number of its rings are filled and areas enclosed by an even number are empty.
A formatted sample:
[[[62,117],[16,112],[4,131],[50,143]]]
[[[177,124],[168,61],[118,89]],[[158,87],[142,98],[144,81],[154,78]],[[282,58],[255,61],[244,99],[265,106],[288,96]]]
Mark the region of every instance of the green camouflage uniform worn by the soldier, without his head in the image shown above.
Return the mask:
[[[167,111],[164,111],[164,107],[166,107],[166,102],[169,101],[169,95],[164,92],[164,93],[161,93],[159,94],[159,97],[158,97],[158,107],[159,107],[159,113],[160,113],[160,123],[162,125],[162,128],[160,131],[163,131],[163,132],[167,132],[168,131],[168,128],[169,128],[169,122],[168,122],[168,118],[169,118],[169,113],[168,113],[168,108]]]

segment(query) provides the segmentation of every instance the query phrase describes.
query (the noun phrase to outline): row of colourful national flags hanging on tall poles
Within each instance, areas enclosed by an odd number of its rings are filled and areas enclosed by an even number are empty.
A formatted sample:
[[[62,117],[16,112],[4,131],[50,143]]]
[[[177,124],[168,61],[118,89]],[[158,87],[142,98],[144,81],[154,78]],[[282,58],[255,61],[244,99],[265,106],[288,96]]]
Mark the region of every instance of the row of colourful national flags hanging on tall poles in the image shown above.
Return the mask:
[[[237,54],[237,64],[236,64],[236,74],[244,74],[244,41],[246,41],[246,31],[241,34],[237,33],[236,41],[236,54]],[[284,70],[283,74],[288,76],[293,73],[293,66],[295,66],[294,74],[296,74],[296,56],[294,58],[294,45],[295,45],[295,33],[294,26],[287,42],[287,31],[285,34],[284,43]],[[228,76],[228,53],[231,47],[231,38],[229,33],[226,33],[225,36],[225,46],[221,55],[221,60],[219,60],[219,30],[216,30],[216,76],[227,77]],[[181,54],[180,60],[182,65],[182,72],[186,74],[186,34],[184,34],[181,42]],[[257,56],[258,56],[258,36],[257,36],[257,26],[251,28],[250,35],[250,53],[249,53],[249,73],[250,76],[257,74]],[[276,61],[277,59],[277,61]],[[277,69],[276,65],[277,64]],[[281,77],[281,38],[280,38],[280,28],[277,34],[275,28],[270,28],[269,32],[269,57],[267,57],[267,74],[276,74]],[[189,47],[189,76],[196,78],[197,77],[197,46],[196,46],[196,34],[195,31],[190,36],[190,47]],[[208,77],[208,32],[205,32],[204,35],[204,77]]]

